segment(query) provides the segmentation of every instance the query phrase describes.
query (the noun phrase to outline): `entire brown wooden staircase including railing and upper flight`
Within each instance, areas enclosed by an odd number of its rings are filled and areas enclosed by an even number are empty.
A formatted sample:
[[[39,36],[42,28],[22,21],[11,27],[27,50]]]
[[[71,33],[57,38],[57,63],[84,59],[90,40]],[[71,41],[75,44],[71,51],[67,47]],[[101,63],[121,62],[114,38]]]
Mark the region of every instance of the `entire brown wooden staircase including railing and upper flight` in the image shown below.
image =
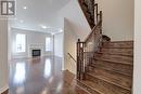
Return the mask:
[[[91,94],[131,94],[133,41],[111,41],[94,0],[78,0],[92,29],[77,42],[77,84]]]

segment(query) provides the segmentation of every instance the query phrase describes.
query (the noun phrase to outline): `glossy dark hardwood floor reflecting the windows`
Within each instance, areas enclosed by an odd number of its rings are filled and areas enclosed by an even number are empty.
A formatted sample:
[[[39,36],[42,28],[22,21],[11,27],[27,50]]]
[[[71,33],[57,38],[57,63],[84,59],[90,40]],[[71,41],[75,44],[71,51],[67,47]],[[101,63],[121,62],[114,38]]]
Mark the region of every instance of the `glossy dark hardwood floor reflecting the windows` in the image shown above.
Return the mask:
[[[59,57],[13,59],[10,63],[9,94],[88,94]]]

